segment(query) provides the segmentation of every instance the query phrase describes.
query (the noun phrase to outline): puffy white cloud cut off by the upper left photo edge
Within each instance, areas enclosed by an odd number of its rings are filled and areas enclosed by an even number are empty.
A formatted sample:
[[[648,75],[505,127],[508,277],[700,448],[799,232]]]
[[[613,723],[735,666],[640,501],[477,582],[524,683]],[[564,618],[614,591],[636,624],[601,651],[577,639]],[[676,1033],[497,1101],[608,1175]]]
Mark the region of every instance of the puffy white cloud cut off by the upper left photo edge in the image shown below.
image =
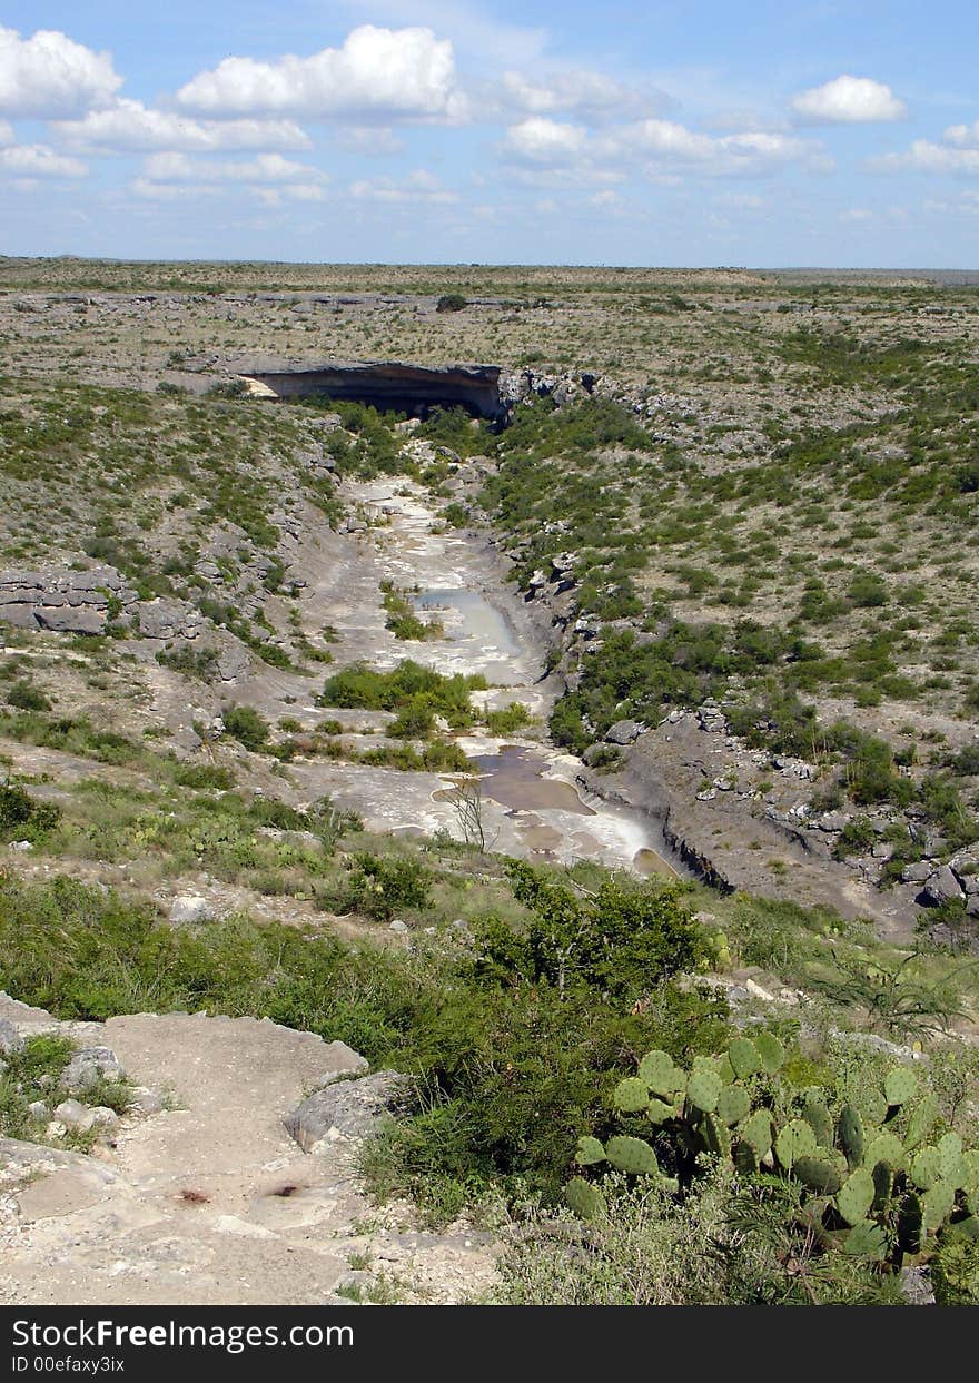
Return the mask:
[[[104,105],[122,86],[108,53],[93,53],[55,29],[22,39],[0,26],[0,111],[57,119]]]

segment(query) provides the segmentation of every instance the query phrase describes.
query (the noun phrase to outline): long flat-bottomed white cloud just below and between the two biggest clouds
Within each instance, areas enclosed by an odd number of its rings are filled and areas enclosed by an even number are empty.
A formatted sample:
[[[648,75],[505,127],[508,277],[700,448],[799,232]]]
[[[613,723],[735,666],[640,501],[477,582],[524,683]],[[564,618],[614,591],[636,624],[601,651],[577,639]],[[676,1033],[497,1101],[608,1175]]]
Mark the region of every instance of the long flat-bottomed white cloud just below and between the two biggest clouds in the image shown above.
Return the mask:
[[[90,111],[82,120],[53,122],[53,131],[75,148],[119,154],[313,148],[310,137],[293,120],[195,120],[124,98],[108,109]]]

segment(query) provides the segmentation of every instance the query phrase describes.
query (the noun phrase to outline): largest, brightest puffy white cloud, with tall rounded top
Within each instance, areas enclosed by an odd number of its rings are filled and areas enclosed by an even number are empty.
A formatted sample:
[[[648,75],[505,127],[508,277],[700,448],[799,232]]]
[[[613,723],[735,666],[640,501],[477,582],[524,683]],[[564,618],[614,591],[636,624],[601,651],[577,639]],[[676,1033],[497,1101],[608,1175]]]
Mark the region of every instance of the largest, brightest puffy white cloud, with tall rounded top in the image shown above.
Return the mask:
[[[225,58],[181,87],[177,100],[203,115],[456,120],[465,111],[448,40],[431,29],[371,24],[354,29],[343,47],[307,58]]]

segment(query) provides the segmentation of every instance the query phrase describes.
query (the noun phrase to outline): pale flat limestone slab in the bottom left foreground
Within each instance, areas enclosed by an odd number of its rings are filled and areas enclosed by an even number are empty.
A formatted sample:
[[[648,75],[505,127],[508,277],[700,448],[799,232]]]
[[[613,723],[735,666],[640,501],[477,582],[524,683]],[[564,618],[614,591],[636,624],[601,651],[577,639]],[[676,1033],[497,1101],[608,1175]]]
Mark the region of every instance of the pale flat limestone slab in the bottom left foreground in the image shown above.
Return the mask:
[[[3,1011],[24,1023],[12,1000]],[[492,1246],[405,1238],[411,1207],[386,1228],[360,1185],[350,1140],[405,1077],[337,1082],[360,1076],[364,1058],[254,1018],[138,1014],[86,1037],[131,1080],[169,1087],[176,1108],[124,1119],[98,1156],[0,1140],[0,1303],[332,1304],[354,1249],[394,1272],[408,1300],[490,1289]],[[317,1090],[337,1098],[308,1156],[283,1120]]]

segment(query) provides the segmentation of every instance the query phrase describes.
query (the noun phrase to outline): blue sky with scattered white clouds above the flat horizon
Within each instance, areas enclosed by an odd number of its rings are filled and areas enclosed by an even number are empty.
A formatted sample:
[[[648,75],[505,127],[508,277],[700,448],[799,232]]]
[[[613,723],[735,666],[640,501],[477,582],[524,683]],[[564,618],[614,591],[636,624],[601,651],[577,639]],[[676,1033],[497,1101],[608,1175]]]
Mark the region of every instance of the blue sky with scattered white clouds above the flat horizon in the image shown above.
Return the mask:
[[[975,0],[0,0],[0,253],[979,268]]]

